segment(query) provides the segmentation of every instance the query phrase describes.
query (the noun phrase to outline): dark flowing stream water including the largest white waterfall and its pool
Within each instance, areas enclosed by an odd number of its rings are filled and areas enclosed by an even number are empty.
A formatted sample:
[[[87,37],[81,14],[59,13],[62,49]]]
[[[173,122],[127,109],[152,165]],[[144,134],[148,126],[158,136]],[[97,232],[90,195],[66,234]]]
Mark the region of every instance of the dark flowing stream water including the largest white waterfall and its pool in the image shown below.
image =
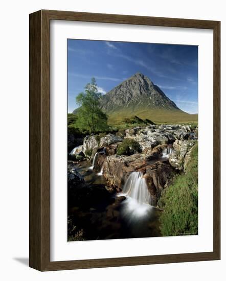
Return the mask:
[[[97,154],[95,154],[97,157]],[[103,167],[99,173],[92,169],[88,161],[76,167],[87,184],[106,186]],[[96,187],[95,187],[96,188]],[[76,224],[85,232],[86,240],[159,237],[160,210],[153,207],[146,180],[141,172],[132,172],[123,186],[122,193],[112,193],[108,203],[96,205],[89,210],[69,210]],[[72,213],[71,213],[72,212]]]

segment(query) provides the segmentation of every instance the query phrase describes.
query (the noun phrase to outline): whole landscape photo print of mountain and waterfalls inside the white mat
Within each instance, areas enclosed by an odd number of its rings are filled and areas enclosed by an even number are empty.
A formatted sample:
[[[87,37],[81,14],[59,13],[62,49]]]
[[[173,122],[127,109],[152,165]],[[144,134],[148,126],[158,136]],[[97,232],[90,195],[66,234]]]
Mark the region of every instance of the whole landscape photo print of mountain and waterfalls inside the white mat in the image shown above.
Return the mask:
[[[198,234],[198,46],[67,39],[67,241]]]

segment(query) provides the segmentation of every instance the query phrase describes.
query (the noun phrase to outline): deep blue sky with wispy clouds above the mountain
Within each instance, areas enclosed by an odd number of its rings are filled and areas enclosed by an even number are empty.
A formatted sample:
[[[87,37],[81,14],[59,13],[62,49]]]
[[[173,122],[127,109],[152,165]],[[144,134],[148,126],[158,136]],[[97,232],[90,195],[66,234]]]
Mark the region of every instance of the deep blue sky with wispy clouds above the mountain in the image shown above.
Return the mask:
[[[76,39],[67,40],[68,112],[92,77],[104,95],[137,72],[180,109],[198,112],[198,46]]]

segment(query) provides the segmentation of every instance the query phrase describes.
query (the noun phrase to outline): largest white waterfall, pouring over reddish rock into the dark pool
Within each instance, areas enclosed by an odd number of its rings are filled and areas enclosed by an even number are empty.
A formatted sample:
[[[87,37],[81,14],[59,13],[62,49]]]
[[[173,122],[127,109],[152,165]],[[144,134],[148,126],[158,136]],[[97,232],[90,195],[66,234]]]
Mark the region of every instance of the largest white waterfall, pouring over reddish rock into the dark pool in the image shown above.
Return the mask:
[[[123,186],[123,193],[137,200],[139,204],[151,205],[152,203],[146,180],[141,172],[132,172],[129,175]]]

